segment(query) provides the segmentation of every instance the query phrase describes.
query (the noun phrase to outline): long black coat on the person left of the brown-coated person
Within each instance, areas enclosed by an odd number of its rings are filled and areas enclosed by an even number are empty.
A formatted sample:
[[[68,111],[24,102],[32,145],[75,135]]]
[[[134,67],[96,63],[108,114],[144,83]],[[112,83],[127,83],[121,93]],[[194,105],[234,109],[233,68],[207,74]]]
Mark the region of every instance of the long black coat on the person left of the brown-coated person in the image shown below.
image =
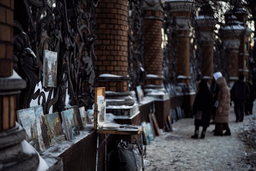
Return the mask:
[[[199,83],[199,91],[197,92],[193,104],[193,114],[196,115],[198,111],[202,111],[202,120],[195,119],[195,125],[209,126],[212,101],[212,94],[209,91],[207,83],[206,81],[202,80]]]

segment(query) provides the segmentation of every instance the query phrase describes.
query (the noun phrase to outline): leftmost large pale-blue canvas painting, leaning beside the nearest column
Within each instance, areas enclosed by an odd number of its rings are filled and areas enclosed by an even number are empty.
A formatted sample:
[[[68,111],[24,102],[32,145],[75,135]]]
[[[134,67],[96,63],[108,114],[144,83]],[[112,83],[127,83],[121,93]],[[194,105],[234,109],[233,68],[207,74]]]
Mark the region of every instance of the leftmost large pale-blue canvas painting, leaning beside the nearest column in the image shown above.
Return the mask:
[[[42,115],[44,114],[41,105],[17,111],[18,122],[26,131],[26,140],[39,153],[44,152],[46,149],[43,138],[45,130]]]

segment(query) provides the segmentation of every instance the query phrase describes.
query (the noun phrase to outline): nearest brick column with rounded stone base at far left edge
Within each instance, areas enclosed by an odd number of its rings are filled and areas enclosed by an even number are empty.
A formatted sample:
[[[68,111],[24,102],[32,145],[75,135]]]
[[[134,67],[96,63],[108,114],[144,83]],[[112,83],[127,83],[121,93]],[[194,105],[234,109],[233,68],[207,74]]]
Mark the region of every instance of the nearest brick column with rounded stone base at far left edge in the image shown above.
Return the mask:
[[[15,98],[26,82],[13,71],[13,9],[14,0],[0,1],[0,163],[2,170],[36,170],[38,155],[24,149],[26,133],[15,122]]]

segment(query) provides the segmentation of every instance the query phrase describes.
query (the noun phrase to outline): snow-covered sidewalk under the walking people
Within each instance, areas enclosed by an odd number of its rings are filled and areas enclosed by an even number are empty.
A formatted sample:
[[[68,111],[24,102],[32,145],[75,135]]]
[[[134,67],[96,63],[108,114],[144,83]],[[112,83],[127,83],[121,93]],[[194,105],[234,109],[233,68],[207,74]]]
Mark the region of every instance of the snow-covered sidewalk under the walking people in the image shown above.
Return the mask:
[[[253,113],[256,113],[254,103]],[[230,108],[229,127],[231,136],[214,136],[210,125],[205,139],[191,139],[194,134],[194,119],[181,119],[173,124],[173,132],[156,137],[147,146],[145,170],[248,170],[242,162],[246,145],[238,137],[244,122],[236,123],[233,105]],[[200,127],[200,134],[201,134]],[[256,170],[255,168],[250,170]]]

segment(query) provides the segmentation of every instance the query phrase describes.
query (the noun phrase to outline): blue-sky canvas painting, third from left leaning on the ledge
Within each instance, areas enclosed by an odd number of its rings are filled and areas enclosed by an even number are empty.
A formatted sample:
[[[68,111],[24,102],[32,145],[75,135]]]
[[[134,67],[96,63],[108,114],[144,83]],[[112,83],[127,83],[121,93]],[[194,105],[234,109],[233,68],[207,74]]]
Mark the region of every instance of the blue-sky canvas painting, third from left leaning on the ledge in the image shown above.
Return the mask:
[[[60,113],[65,126],[66,138],[67,140],[71,140],[75,135],[79,134],[75,111],[74,109],[69,109]]]

